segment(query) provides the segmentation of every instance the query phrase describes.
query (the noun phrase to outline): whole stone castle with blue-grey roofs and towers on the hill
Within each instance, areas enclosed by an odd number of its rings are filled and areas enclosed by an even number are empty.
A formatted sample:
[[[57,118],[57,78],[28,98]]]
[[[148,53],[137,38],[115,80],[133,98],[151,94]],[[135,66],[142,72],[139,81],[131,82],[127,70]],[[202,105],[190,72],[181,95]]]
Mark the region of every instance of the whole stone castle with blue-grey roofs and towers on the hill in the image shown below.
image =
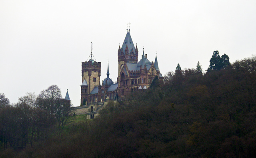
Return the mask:
[[[92,58],[82,62],[81,105],[123,99],[133,91],[148,89],[156,76],[160,79],[163,78],[158,67],[157,57],[155,62],[150,62],[143,49],[142,57],[138,62],[139,51],[137,44],[134,47],[130,29],[127,29],[122,47],[119,45],[117,56],[118,77],[116,83],[109,77],[109,67],[106,78],[100,84],[101,63]]]

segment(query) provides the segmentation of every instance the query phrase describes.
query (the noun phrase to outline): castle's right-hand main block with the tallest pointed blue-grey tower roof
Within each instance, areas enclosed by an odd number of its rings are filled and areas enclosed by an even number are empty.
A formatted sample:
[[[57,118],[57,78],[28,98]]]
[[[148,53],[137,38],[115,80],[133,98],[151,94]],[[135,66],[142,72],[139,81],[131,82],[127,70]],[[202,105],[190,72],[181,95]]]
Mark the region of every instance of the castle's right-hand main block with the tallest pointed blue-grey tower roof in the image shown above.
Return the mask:
[[[130,35],[130,29],[127,29],[126,37],[122,47],[118,48],[118,95],[122,98],[130,92],[140,89],[148,89],[153,79],[158,76],[163,79],[158,67],[157,57],[155,62],[150,62],[147,54],[143,54],[138,62],[138,47],[134,47]]]

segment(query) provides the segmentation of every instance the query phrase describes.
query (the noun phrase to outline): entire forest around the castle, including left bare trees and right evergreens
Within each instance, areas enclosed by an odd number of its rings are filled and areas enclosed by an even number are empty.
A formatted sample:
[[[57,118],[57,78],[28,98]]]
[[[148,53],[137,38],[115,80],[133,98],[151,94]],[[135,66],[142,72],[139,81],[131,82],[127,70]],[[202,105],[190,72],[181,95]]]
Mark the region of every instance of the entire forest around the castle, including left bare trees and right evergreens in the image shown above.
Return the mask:
[[[68,109],[56,85],[15,105],[1,93],[0,157],[255,157],[256,56],[178,64],[95,119]]]

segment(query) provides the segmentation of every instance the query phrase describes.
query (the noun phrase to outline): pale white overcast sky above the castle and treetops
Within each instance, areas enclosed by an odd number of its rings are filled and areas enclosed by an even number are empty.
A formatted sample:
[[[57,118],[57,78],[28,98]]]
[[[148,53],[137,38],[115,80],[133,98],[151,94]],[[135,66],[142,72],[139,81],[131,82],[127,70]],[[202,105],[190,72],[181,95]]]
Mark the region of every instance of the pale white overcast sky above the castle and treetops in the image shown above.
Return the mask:
[[[115,82],[129,22],[139,57],[157,51],[162,75],[178,63],[206,70],[214,50],[231,63],[256,53],[255,0],[0,0],[0,93],[16,103],[55,84],[79,106],[91,41],[100,79],[109,60]]]

